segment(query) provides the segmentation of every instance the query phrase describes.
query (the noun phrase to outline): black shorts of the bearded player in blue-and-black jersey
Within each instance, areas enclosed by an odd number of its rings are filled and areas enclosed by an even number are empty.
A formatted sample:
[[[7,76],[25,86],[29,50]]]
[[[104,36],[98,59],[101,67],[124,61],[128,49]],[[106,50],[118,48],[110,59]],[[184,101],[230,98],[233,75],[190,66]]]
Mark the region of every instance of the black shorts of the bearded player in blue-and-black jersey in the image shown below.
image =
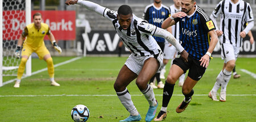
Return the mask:
[[[181,57],[175,58],[173,64],[179,66],[184,73],[188,70],[188,76],[195,81],[199,81],[205,73],[206,68],[201,66],[201,61],[188,57],[188,62],[185,62]]]

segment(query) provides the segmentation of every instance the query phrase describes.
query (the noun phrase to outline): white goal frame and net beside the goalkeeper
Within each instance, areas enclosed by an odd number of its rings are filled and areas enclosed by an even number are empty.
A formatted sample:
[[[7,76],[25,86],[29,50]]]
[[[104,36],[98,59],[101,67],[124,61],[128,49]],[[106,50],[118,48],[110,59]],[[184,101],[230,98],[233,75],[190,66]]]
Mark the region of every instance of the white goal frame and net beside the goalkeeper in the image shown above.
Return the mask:
[[[19,59],[14,52],[24,27],[31,22],[31,1],[3,0],[0,3],[0,87],[3,76],[16,76]],[[31,75],[31,58],[26,64],[26,75]],[[16,77],[12,77],[16,78]],[[7,78],[10,79],[10,78]]]

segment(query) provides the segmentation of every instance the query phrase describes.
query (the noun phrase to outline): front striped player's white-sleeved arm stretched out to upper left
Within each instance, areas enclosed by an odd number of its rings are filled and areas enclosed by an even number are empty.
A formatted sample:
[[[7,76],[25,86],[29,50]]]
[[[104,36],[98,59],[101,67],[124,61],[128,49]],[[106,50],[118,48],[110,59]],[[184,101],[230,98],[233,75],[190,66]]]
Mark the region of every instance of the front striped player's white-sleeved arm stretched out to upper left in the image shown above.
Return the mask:
[[[74,4],[78,4],[81,5],[83,7],[85,7],[86,9],[92,10],[94,12],[97,12],[100,15],[104,16],[104,12],[106,10],[105,7],[100,6],[94,2],[90,2],[90,1],[82,1],[82,0],[67,0],[65,2],[66,5],[74,5]]]

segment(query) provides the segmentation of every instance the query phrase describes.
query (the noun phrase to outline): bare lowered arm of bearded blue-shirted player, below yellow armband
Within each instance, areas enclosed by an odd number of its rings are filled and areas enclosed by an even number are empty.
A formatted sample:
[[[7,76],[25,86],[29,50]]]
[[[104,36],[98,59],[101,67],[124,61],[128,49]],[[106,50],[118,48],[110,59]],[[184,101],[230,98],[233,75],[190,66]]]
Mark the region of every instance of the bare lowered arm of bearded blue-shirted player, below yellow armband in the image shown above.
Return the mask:
[[[207,53],[201,57],[201,59],[199,61],[201,61],[201,66],[207,68],[209,65],[209,61],[210,61],[210,57],[212,55],[213,49],[215,48],[217,42],[218,42],[218,36],[216,34],[216,32],[214,30],[209,31],[208,34],[210,35],[211,39],[210,39],[210,44],[209,44],[209,48],[207,50]]]

